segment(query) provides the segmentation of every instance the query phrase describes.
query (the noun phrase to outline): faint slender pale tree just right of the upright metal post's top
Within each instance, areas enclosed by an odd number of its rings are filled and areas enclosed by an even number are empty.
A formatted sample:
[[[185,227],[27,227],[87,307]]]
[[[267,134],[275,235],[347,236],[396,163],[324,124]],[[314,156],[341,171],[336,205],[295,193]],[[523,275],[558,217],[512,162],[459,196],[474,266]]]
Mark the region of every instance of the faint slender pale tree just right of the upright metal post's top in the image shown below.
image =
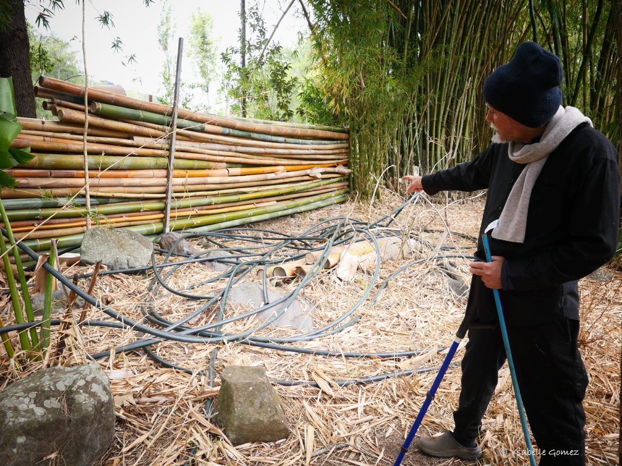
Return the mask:
[[[190,18],[188,57],[192,58],[199,82],[197,87],[209,99],[210,84],[216,80],[216,42],[213,39],[214,21],[208,12],[200,8]]]

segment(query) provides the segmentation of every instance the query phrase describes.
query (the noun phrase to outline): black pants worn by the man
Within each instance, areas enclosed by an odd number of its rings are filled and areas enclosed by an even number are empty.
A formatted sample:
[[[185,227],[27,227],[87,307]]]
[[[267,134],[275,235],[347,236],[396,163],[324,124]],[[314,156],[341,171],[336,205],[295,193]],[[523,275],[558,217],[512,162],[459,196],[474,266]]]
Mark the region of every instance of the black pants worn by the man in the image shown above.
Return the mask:
[[[516,377],[540,466],[585,465],[585,411],[588,378],[577,349],[579,322],[559,319],[537,326],[508,327]],[[455,434],[475,440],[490,403],[498,370],[506,360],[499,326],[470,329],[462,359],[462,391],[453,413]],[[526,445],[511,457],[529,460]],[[565,453],[564,453],[565,452]]]

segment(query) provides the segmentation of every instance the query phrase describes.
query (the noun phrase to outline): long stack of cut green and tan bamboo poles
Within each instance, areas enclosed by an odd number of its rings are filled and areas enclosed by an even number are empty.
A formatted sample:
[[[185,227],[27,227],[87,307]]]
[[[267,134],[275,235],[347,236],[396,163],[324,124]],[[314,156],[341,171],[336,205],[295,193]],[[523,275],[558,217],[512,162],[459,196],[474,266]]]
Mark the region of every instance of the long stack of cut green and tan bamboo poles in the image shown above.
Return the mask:
[[[16,237],[43,250],[52,238],[79,245],[88,223],[164,231],[172,107],[89,88],[85,111],[83,86],[44,76],[35,94],[58,121],[19,118],[12,147],[35,157],[6,170],[17,180],[1,192]],[[171,230],[213,231],[345,201],[346,129],[187,109],[178,117]]]

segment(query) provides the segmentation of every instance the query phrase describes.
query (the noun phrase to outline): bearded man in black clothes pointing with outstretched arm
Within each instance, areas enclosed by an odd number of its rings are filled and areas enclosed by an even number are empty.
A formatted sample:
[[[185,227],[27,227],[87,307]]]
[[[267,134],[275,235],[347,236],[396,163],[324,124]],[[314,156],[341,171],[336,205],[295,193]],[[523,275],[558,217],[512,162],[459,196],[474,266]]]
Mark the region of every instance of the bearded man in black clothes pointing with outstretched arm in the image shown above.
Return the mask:
[[[488,188],[466,313],[455,429],[422,437],[419,449],[475,460],[481,418],[506,355],[492,289],[499,289],[522,400],[541,466],[585,464],[588,383],[579,351],[577,280],[616,249],[620,210],[617,153],[578,109],[561,107],[559,57],[534,42],[486,80],[493,144],[473,162],[433,175],[406,176],[407,193]],[[527,464],[526,446],[509,452]]]

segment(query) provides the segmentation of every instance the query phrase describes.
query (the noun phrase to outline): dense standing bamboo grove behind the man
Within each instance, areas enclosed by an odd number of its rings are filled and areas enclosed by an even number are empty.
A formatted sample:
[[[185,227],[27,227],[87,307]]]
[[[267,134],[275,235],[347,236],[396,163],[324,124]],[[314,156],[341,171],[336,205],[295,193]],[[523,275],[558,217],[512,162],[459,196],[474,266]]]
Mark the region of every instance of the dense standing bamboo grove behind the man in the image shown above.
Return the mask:
[[[483,81],[518,43],[536,40],[564,65],[564,105],[620,139],[618,45],[609,0],[310,0],[315,83],[350,127],[353,187],[368,197],[387,167],[396,188],[470,160],[492,135]],[[533,14],[530,14],[530,7]],[[370,176],[371,175],[371,176]]]

